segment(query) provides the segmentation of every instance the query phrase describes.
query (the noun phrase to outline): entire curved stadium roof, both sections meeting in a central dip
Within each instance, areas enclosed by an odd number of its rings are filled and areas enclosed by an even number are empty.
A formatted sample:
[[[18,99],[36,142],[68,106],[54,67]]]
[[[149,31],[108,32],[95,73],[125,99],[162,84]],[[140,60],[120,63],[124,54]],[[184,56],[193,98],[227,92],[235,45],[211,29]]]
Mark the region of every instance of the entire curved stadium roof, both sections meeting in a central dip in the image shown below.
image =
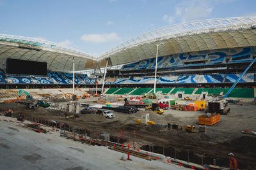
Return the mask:
[[[256,17],[218,18],[185,22],[146,32],[115,46],[100,57],[75,48],[36,38],[0,34],[0,67],[6,68],[6,59],[47,62],[51,71],[72,71],[75,57],[76,70],[91,69],[97,62],[109,66],[135,62],[175,53],[197,52],[222,48],[256,45]]]

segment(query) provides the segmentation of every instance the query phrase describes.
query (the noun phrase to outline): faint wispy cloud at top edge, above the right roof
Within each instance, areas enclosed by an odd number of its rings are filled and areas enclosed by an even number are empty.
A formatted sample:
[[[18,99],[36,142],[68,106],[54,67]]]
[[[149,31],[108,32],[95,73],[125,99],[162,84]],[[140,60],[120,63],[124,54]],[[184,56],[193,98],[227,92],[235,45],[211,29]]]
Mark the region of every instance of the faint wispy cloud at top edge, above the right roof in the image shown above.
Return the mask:
[[[223,3],[225,2],[223,0]],[[173,22],[205,19],[212,14],[215,5],[215,1],[183,0],[175,6],[173,15],[166,14],[163,16],[163,20],[172,24]]]

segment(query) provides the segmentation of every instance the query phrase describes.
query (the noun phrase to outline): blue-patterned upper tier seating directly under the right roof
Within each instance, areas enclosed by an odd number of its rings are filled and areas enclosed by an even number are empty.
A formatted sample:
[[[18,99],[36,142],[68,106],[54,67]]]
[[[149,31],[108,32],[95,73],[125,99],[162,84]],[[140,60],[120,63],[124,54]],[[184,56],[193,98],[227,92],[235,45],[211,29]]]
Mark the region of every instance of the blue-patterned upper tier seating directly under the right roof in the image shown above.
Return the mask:
[[[228,48],[220,50],[212,50],[211,53],[207,51],[193,52],[193,53],[181,53],[174,55],[161,56],[157,59],[158,68],[166,68],[173,66],[184,66],[184,61],[189,60],[205,60],[205,65],[221,64],[225,63],[225,57],[230,57],[228,62],[248,62],[252,61],[251,55],[253,54],[253,47],[244,48]],[[198,64],[187,64],[186,66],[198,66],[204,65],[203,63]],[[156,59],[145,59],[139,62],[133,62],[131,64],[125,64],[122,70],[137,70],[137,69],[154,69],[156,66]]]

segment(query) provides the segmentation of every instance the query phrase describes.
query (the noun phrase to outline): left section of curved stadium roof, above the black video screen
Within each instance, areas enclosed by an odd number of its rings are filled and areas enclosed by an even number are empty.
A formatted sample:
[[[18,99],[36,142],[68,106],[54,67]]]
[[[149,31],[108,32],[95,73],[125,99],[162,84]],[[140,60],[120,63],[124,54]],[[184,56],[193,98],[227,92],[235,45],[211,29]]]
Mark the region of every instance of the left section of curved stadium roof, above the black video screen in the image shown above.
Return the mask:
[[[76,70],[93,67],[93,55],[69,46],[36,38],[0,34],[0,67],[6,68],[6,58],[47,62],[51,71],[72,71],[73,57]]]

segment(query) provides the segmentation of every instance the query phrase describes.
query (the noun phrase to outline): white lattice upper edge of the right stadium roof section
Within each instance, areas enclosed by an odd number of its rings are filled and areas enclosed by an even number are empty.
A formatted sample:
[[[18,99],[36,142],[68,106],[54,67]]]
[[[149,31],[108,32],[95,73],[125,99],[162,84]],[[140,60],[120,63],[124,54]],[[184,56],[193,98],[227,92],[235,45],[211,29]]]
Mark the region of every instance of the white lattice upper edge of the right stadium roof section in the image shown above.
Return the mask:
[[[180,24],[161,27],[159,29],[145,32],[144,34],[131,38],[124,43],[115,46],[108,52],[103,53],[97,59],[106,59],[115,53],[122,52],[134,46],[139,46],[146,43],[154,43],[156,41],[163,41],[165,39],[178,38],[181,36],[189,36],[191,34],[248,29],[252,26],[256,28],[256,17],[214,18],[183,22]]]

